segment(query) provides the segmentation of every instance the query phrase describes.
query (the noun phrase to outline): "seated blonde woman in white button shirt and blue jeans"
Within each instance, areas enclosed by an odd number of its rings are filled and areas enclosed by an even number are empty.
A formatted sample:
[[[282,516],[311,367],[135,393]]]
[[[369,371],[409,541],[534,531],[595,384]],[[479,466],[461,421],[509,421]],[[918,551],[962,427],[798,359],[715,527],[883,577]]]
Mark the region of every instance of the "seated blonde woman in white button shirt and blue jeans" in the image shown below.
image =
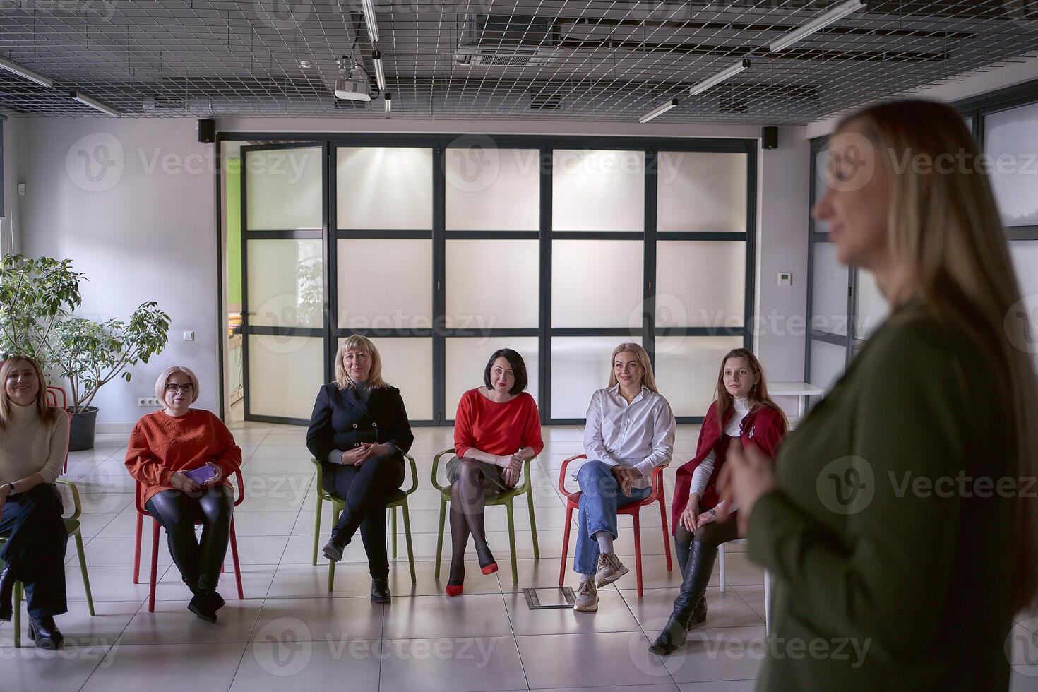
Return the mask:
[[[598,610],[598,587],[627,574],[612,550],[617,509],[652,492],[652,470],[674,451],[674,414],[656,389],[649,354],[637,343],[612,352],[609,387],[588,407],[583,446],[588,462],[576,473],[580,510],[573,569],[580,575],[574,610]]]

